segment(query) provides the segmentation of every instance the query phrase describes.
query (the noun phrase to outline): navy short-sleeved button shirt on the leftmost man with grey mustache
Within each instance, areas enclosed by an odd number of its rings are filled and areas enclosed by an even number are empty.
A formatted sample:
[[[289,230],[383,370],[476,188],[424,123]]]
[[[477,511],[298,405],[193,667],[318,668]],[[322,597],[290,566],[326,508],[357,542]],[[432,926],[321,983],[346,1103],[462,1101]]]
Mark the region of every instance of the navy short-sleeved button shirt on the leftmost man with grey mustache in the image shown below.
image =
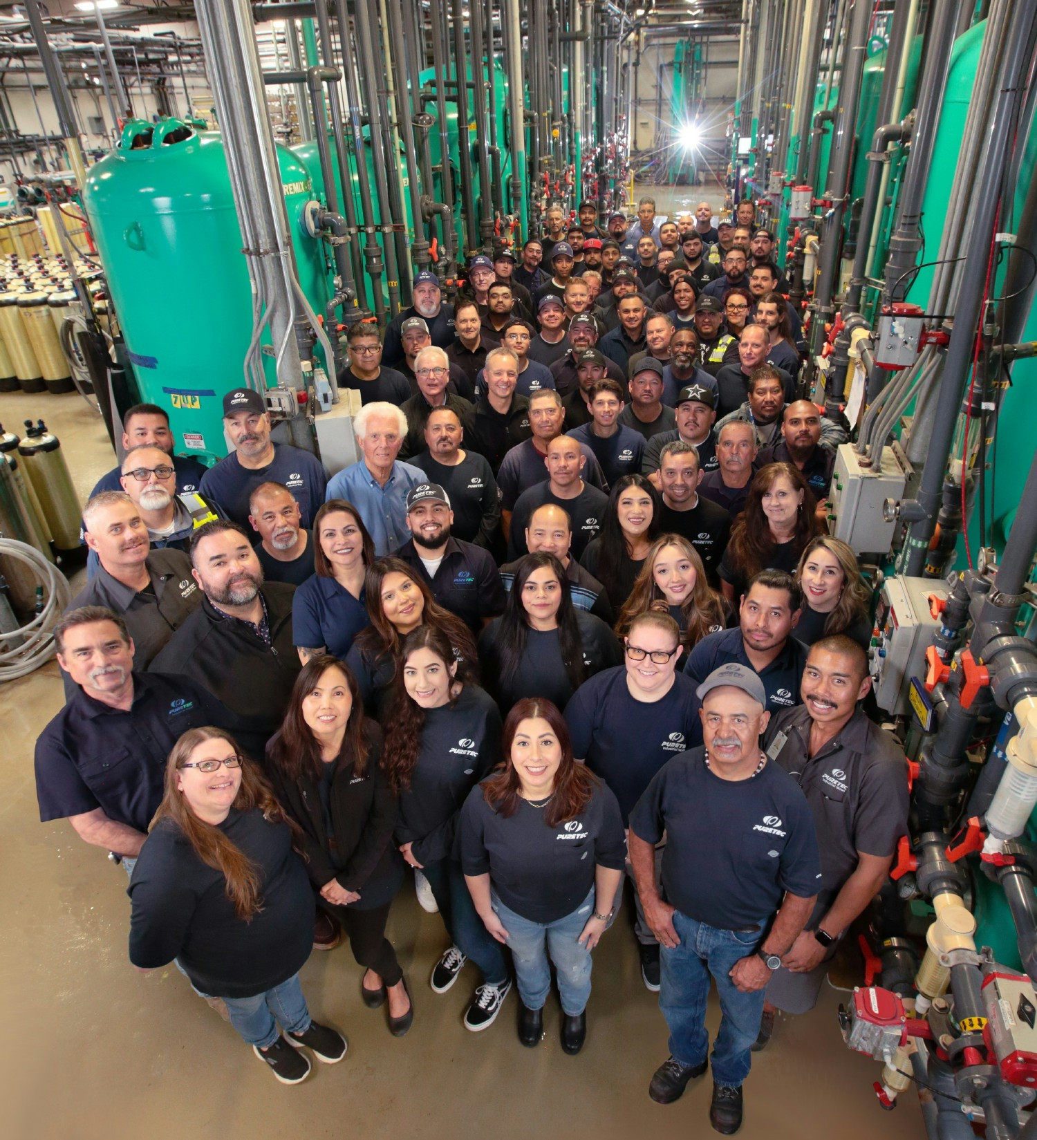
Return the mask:
[[[133,673],[133,703],[113,709],[75,693],[36,740],[40,822],[98,807],[146,832],[162,799],[165,760],[188,728],[232,728],[227,709],[189,677]]]

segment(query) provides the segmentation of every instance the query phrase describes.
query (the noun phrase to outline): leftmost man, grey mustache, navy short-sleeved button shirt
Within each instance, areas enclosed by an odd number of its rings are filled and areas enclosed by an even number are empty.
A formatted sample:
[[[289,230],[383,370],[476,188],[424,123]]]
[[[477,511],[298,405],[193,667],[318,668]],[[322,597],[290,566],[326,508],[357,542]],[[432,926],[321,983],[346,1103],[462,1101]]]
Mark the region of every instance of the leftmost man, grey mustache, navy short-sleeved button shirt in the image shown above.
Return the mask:
[[[71,610],[54,640],[75,691],[36,740],[40,822],[67,819],[85,842],[122,856],[130,874],[173,744],[188,728],[235,724],[194,681],[133,671],[133,641],[112,610]]]

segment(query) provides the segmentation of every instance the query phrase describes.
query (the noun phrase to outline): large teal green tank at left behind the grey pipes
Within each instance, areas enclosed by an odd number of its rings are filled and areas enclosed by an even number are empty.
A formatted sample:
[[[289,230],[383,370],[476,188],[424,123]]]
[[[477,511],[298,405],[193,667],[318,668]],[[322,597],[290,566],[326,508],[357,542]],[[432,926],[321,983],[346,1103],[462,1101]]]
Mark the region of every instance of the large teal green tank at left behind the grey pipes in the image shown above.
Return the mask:
[[[322,314],[328,264],[302,225],[310,172],[286,147],[277,154],[300,284]],[[220,133],[175,119],[129,122],[87,172],[83,206],[141,399],[169,412],[185,454],[214,462],[227,453],[222,396],[243,382],[252,336],[252,286]]]

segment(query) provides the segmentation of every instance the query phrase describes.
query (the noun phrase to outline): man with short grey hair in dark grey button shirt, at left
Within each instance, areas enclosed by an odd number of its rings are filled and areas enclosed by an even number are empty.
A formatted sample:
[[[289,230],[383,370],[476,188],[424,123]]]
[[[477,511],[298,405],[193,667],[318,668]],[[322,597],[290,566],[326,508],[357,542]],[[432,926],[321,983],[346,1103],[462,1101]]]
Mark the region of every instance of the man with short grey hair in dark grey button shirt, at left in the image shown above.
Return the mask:
[[[146,669],[202,604],[190,559],[181,549],[152,549],[140,510],[122,491],[95,495],[83,510],[83,520],[97,572],[68,611],[103,605],[117,613],[133,638],[137,668]],[[66,673],[66,698],[72,698],[75,687]]]

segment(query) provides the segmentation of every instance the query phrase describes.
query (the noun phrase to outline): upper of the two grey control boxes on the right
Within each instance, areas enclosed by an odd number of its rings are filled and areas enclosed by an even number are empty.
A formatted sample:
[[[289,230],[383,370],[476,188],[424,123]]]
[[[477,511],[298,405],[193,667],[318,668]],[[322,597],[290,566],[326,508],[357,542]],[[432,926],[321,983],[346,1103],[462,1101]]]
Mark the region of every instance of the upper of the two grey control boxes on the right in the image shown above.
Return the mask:
[[[893,540],[896,519],[887,520],[883,504],[899,499],[907,481],[905,463],[892,447],[882,449],[882,463],[860,465],[852,443],[841,443],[828,492],[828,523],[856,554],[885,554]]]

